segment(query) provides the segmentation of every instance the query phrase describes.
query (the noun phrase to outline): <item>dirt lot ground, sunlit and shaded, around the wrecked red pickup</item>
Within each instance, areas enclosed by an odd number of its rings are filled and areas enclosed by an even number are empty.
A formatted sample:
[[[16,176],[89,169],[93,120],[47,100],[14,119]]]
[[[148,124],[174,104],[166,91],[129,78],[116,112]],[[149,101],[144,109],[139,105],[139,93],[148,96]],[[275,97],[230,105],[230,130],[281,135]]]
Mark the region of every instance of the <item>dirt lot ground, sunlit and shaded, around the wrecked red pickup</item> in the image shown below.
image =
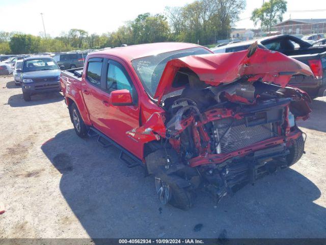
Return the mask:
[[[307,154],[297,164],[217,207],[200,192],[181,211],[162,206],[153,177],[117,149],[78,138],[60,93],[24,102],[12,80],[0,78],[0,238],[326,237],[326,98],[300,122]]]

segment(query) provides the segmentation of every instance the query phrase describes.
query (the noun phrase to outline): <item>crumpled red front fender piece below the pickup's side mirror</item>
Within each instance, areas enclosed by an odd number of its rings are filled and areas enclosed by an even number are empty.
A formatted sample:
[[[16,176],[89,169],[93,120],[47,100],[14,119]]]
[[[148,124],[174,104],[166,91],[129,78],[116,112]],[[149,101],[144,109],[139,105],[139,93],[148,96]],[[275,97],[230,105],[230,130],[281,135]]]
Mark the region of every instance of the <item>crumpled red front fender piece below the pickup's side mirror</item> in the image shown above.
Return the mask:
[[[162,113],[155,112],[143,126],[127,131],[126,134],[143,143],[159,140],[160,137],[166,136],[165,120],[166,118]]]

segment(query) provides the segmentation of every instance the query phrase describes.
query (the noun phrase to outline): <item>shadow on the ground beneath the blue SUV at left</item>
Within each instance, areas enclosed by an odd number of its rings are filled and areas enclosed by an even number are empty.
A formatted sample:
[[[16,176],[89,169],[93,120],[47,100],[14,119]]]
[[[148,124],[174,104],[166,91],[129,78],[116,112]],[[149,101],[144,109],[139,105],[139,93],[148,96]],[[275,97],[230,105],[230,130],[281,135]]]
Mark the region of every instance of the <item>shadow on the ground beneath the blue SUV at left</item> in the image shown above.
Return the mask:
[[[8,105],[11,107],[25,107],[25,106],[36,106],[44,105],[54,102],[62,101],[64,97],[61,93],[44,93],[44,94],[35,94],[32,95],[31,101],[24,101],[21,94],[15,94],[9,97]]]

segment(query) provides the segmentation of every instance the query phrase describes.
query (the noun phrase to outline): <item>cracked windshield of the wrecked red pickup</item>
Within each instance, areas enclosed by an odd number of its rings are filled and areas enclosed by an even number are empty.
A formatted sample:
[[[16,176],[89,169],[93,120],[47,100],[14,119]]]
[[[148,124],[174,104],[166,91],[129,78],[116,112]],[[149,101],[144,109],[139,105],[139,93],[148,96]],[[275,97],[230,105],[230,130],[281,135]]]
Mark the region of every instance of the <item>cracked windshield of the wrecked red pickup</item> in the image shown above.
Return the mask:
[[[131,61],[134,70],[137,72],[146,92],[154,96],[158,82],[163,74],[168,61],[189,56],[211,54],[206,48],[193,47],[185,50],[176,50],[168,53],[147,56]]]

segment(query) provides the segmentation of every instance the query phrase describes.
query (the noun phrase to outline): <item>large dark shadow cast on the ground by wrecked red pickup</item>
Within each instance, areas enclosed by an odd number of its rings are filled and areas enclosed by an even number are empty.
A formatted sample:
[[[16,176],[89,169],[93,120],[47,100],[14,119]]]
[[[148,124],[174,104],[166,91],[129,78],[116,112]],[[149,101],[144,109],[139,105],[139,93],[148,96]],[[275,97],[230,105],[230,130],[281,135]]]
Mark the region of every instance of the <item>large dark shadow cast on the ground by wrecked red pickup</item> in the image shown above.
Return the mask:
[[[144,178],[142,168],[127,168],[118,150],[80,139],[73,129],[41,149],[62,174],[62,195],[91,238],[214,238],[222,231],[228,237],[325,236],[326,209],[314,203],[321,193],[291,168],[247,185],[217,208],[199,192],[195,206],[182,211],[160,205],[153,177]]]

